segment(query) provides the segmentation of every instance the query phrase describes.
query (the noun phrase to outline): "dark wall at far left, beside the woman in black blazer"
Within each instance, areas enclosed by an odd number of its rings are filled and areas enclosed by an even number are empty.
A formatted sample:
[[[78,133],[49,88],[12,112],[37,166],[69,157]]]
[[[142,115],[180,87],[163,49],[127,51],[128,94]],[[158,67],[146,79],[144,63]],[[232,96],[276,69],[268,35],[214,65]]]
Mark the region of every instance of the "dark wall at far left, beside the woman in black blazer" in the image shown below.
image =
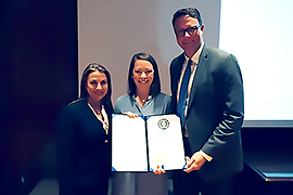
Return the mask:
[[[21,194],[77,98],[77,2],[1,1],[0,27],[0,194]]]

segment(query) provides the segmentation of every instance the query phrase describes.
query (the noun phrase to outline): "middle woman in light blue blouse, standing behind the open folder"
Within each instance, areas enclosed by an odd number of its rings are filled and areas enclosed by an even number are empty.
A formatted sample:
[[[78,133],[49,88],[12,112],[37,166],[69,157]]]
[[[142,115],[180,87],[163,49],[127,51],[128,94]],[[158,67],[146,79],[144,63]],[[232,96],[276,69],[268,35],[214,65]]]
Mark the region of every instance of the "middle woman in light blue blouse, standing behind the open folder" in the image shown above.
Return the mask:
[[[132,56],[128,72],[128,92],[119,96],[114,113],[135,116],[168,113],[170,98],[161,92],[157,64],[148,53]],[[128,115],[129,116],[129,115]],[[133,138],[136,139],[136,138]],[[113,195],[167,195],[167,174],[115,172]]]

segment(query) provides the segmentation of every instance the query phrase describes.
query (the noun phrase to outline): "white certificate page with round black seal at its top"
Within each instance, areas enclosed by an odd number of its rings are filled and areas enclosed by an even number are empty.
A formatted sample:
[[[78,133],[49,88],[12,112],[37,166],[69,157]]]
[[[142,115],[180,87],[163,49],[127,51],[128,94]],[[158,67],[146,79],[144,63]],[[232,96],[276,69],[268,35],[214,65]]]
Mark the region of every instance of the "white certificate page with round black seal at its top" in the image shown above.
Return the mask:
[[[151,170],[183,169],[186,161],[180,118],[176,115],[152,116],[146,125]]]

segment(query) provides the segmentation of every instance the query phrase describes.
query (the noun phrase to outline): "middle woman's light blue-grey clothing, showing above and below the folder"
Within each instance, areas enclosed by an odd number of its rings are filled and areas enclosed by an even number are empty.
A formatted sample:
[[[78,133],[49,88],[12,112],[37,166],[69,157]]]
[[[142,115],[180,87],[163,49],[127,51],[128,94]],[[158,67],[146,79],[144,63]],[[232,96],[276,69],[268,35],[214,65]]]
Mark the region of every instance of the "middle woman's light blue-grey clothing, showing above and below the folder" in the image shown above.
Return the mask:
[[[140,116],[168,114],[170,98],[160,93],[155,98],[149,96],[142,107],[135,96],[128,94],[119,96],[115,103],[114,113],[131,112]],[[112,195],[168,195],[167,174],[155,176],[153,172],[115,172],[113,174]]]

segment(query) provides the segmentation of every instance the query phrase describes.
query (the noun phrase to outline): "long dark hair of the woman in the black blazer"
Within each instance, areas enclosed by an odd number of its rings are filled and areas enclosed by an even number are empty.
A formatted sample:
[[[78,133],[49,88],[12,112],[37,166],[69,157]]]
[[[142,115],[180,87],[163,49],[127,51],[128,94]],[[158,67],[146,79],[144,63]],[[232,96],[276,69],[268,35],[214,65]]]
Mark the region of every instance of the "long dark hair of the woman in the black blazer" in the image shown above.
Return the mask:
[[[105,74],[106,80],[107,80],[107,92],[105,96],[101,100],[101,104],[104,105],[105,107],[110,108],[113,110],[113,104],[111,100],[112,95],[112,83],[111,83],[111,76],[109,70],[101,64],[98,63],[90,63],[84,70],[82,77],[81,77],[81,82],[80,82],[80,99],[87,99],[89,96],[88,90],[87,90],[87,81],[89,78],[89,74],[92,72],[100,72]]]

